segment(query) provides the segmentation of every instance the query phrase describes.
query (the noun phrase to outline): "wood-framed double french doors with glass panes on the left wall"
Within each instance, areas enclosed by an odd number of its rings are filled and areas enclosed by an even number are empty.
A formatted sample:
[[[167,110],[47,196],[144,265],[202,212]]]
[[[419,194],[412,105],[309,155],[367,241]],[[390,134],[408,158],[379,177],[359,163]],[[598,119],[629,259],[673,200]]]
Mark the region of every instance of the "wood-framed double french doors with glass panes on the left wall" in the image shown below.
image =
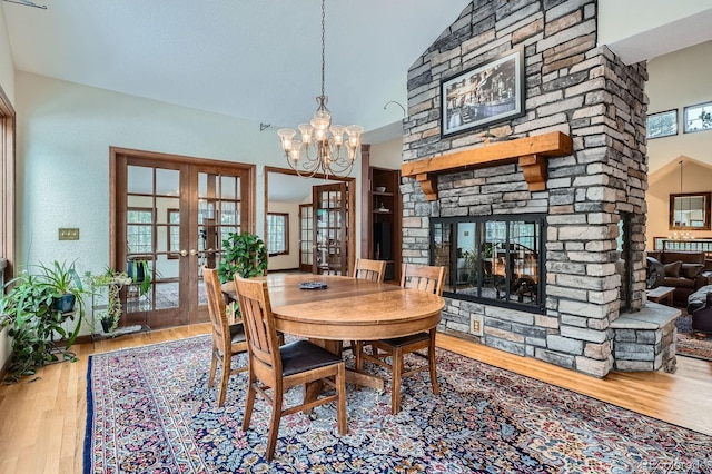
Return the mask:
[[[139,270],[120,325],[208,320],[201,269],[220,265],[230,233],[254,231],[254,166],[121,149],[111,158],[112,266]]]

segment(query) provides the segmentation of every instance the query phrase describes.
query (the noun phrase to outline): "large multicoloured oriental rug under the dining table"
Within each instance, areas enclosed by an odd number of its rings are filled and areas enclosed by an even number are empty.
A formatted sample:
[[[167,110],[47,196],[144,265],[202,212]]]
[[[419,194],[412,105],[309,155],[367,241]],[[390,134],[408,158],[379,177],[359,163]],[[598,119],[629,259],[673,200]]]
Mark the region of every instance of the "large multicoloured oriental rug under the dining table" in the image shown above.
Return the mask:
[[[244,364],[240,355],[237,363]],[[438,349],[441,395],[408,377],[384,393],[347,386],[336,407],[284,417],[264,458],[269,406],[240,429],[246,374],[225,407],[208,388],[208,335],[91,356],[85,473],[706,473],[712,436]],[[372,368],[370,366],[368,367]],[[300,388],[286,395],[291,403]]]

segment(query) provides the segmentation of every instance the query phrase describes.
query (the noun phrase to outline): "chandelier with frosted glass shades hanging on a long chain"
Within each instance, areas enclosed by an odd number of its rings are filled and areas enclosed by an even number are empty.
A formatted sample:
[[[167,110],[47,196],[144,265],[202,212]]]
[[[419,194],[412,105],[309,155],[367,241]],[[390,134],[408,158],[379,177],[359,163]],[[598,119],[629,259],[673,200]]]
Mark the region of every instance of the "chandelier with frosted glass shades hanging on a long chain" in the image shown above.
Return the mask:
[[[325,0],[322,0],[322,95],[316,98],[318,107],[309,124],[299,125],[301,140],[295,140],[297,132],[291,128],[279,129],[277,135],[285,157],[297,175],[345,177],[354,167],[364,128],[358,125],[332,125],[332,113],[326,108],[329,98],[324,92],[325,24]]]

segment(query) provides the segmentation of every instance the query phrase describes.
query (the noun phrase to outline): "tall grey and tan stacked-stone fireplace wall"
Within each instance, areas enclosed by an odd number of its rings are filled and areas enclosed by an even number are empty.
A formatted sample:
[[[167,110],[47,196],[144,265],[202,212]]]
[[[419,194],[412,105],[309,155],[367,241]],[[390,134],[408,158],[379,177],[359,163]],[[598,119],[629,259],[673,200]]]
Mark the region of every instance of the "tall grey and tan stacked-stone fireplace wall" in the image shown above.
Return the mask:
[[[602,377],[614,365],[610,324],[621,307],[619,213],[632,215],[632,309],[644,304],[647,72],[645,63],[625,66],[596,47],[596,1],[490,0],[465,8],[408,71],[403,158],[483,146],[483,129],[441,137],[441,80],[518,46],[526,116],[490,131],[510,138],[562,131],[573,139],[573,155],[548,160],[544,191],[528,191],[516,164],[442,175],[436,201],[404,178],[403,258],[429,263],[431,217],[547,213],[546,314],[447,298],[439,329]]]

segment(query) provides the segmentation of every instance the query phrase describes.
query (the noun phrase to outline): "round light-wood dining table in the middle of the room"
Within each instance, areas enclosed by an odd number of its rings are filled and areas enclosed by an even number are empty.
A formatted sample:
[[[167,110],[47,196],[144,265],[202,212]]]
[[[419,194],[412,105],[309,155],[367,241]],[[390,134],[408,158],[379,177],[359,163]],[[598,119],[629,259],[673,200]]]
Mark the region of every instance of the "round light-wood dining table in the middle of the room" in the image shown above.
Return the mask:
[[[335,354],[343,340],[373,340],[429,330],[441,322],[445,300],[437,295],[397,285],[343,276],[270,274],[266,277],[277,330],[316,340]],[[303,286],[326,285],[324,289]],[[306,284],[306,285],[305,285]],[[236,300],[235,283],[222,285]],[[349,378],[383,389],[383,381]],[[356,379],[355,379],[356,378]]]

